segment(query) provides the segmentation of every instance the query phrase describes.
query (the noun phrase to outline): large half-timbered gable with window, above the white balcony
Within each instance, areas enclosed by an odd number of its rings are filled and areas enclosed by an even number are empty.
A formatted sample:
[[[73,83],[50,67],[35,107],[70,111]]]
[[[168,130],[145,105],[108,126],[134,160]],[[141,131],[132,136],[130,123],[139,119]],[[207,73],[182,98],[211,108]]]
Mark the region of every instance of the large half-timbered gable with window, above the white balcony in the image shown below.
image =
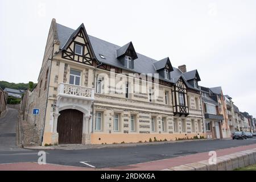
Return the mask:
[[[93,65],[95,56],[88,35],[86,34],[84,24],[81,24],[81,26],[69,37],[67,43],[62,48],[62,57],[87,65]]]

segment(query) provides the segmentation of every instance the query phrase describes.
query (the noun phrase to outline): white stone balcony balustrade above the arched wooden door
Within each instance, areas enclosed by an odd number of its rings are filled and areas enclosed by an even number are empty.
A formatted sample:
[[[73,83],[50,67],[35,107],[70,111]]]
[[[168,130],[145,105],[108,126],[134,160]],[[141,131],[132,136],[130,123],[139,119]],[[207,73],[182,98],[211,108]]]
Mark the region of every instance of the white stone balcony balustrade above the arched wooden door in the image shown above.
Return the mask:
[[[93,101],[94,89],[85,86],[60,83],[57,96]]]

